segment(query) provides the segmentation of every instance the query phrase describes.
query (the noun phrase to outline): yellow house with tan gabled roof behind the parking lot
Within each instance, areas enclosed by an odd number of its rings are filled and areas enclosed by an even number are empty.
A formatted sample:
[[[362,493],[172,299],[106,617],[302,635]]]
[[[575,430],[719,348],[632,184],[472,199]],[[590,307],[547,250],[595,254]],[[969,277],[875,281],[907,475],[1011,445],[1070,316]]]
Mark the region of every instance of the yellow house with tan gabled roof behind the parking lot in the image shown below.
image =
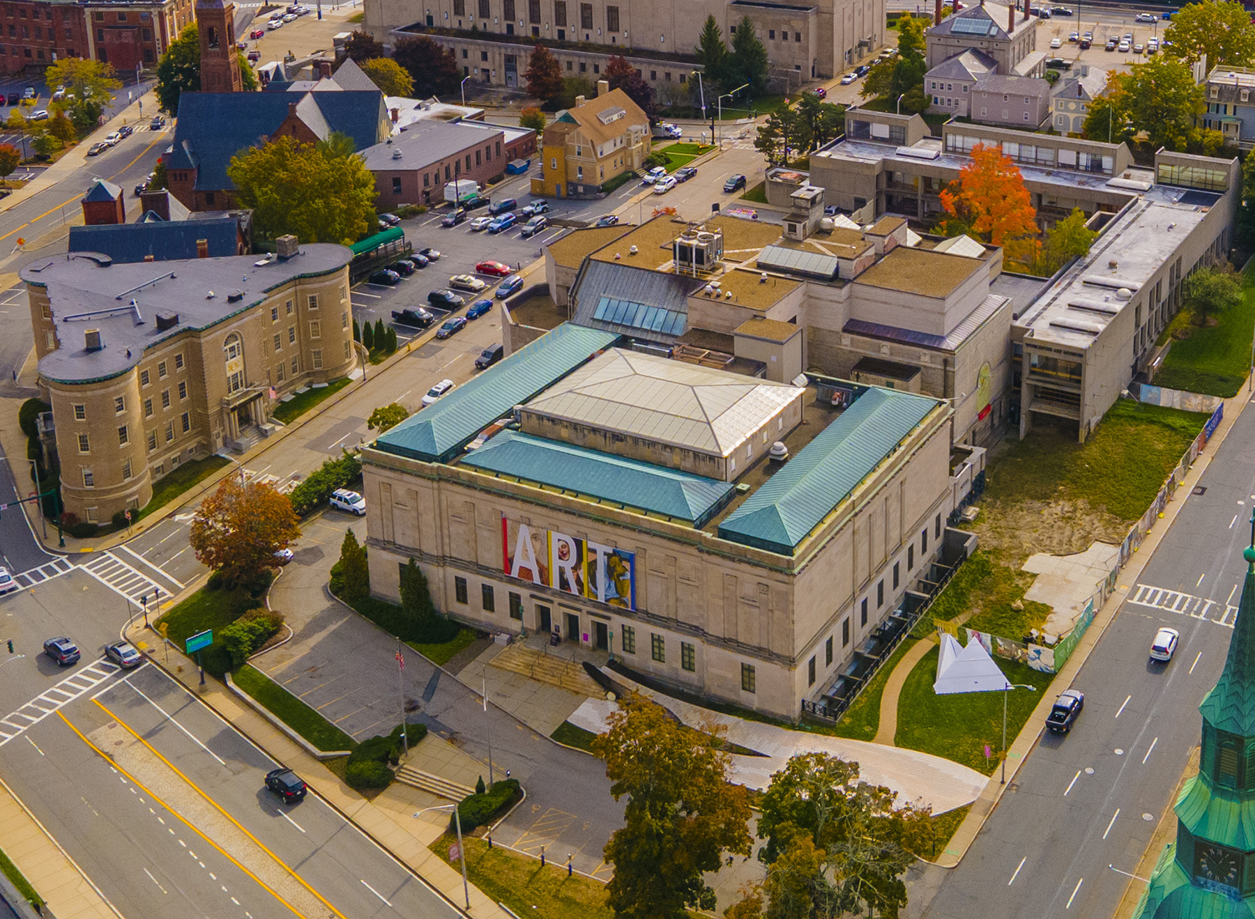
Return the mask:
[[[597,81],[597,97],[558,112],[541,139],[532,194],[591,198],[615,176],[640,169],[650,153],[649,118],[621,89]]]

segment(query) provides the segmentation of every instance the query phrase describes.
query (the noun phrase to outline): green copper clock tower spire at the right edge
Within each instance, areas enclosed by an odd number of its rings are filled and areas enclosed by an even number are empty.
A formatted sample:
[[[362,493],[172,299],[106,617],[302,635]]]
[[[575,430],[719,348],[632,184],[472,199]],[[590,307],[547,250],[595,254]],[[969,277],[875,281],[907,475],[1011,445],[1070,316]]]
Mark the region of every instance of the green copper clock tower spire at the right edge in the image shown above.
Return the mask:
[[[1202,700],[1202,757],[1173,810],[1138,919],[1255,916],[1255,513],[1225,672]]]

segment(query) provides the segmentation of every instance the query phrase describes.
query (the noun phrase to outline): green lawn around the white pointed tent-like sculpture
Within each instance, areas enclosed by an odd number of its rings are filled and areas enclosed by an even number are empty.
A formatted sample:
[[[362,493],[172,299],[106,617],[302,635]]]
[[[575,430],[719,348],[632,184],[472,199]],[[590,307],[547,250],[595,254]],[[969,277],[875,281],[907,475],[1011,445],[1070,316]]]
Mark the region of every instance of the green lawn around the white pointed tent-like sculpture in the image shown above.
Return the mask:
[[[939,648],[926,653],[906,677],[897,705],[895,746],[920,750],[945,757],[978,772],[993,775],[998,767],[998,751],[1003,742],[1001,692],[963,692],[937,696],[936,680]],[[1013,683],[1035,686],[1034,692],[1012,690],[1007,695],[1007,742],[1019,733],[1033,708],[1042,701],[1054,678],[1028,664],[994,658]],[[985,759],[985,745],[993,756]]]

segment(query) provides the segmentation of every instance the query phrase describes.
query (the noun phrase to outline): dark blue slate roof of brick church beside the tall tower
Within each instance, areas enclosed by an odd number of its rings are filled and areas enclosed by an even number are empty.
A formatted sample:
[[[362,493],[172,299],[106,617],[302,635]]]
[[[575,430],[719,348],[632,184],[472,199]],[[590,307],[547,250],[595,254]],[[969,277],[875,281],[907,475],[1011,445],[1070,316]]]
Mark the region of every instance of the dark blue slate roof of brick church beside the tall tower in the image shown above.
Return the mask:
[[[363,150],[388,138],[392,123],[384,94],[344,90],[340,93],[183,93],[178,98],[178,122],[171,168],[198,168],[196,188],[235,188],[227,165],[240,150],[262,143],[287,118],[296,114],[320,138],[340,132]]]

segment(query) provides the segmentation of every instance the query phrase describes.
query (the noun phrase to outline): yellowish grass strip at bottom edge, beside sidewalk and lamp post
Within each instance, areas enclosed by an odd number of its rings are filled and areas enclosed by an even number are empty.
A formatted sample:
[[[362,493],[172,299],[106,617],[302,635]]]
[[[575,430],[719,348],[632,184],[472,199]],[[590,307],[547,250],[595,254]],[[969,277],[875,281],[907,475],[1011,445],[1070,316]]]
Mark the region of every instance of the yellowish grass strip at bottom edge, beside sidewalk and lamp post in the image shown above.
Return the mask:
[[[453,869],[449,846],[457,836],[444,834],[432,843],[432,851]],[[466,839],[467,876],[491,899],[505,903],[520,916],[533,919],[611,919],[606,888],[581,875],[566,876],[566,868],[552,861],[545,868],[536,859],[488,844]]]

